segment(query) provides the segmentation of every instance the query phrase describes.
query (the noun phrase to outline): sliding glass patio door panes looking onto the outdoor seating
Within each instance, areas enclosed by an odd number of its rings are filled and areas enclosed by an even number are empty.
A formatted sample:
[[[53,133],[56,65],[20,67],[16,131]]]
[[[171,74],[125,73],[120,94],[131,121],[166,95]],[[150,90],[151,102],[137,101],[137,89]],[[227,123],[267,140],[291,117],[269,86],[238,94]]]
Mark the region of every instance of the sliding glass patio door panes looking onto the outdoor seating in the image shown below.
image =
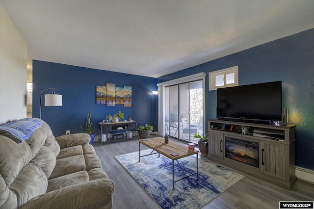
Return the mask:
[[[203,134],[203,80],[165,86],[165,133],[188,142]]]

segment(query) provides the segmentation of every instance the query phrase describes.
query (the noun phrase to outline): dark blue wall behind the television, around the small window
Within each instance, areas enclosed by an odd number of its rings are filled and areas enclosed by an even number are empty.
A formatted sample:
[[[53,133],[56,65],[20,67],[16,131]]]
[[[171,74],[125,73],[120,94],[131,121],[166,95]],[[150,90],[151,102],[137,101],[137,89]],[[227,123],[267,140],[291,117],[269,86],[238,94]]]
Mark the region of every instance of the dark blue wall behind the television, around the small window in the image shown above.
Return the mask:
[[[282,105],[296,124],[296,165],[314,170],[314,29],[306,30],[180,72],[160,82],[238,65],[239,85],[282,80]],[[206,79],[206,118],[216,117],[216,93]],[[208,129],[208,126],[206,126]]]

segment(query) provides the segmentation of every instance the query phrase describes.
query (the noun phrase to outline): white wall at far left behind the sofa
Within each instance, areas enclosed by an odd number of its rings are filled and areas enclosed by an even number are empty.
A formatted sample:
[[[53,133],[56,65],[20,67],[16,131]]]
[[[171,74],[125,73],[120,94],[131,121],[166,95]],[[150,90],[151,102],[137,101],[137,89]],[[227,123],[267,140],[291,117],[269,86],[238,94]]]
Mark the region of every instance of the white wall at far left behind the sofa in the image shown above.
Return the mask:
[[[26,118],[27,43],[0,3],[0,124]]]

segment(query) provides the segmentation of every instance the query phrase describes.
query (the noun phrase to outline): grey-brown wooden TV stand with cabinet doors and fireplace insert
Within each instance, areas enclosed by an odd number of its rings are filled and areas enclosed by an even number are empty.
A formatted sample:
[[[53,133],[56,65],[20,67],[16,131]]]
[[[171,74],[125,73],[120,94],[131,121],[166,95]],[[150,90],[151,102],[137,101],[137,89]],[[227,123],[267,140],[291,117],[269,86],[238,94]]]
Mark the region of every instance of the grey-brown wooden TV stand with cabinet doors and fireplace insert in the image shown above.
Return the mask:
[[[223,125],[233,126],[233,131],[218,130]],[[226,165],[240,172],[252,175],[266,182],[273,183],[286,189],[291,189],[296,181],[295,176],[295,128],[296,125],[273,126],[234,121],[208,120],[209,155],[208,159]],[[277,131],[284,138],[276,140],[255,135],[243,135],[242,127],[250,130]],[[255,142],[259,144],[259,166],[245,164],[226,157],[225,138]]]

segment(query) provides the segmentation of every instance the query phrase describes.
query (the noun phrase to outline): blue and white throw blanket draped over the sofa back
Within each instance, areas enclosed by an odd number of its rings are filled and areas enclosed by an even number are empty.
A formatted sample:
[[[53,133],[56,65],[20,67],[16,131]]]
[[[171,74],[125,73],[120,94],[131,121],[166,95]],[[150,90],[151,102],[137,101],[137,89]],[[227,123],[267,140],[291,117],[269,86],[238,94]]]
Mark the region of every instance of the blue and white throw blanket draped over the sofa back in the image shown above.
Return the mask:
[[[41,127],[43,120],[39,118],[24,118],[0,126],[0,133],[9,136],[17,143],[26,141],[34,131]]]

